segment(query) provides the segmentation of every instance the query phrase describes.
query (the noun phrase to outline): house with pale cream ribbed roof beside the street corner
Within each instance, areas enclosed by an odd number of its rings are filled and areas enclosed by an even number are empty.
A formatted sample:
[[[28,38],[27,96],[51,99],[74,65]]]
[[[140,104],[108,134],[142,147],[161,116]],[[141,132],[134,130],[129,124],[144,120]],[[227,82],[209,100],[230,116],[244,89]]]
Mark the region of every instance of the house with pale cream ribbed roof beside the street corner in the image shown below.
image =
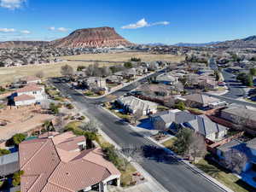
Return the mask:
[[[129,113],[136,113],[137,110],[142,110],[143,115],[157,112],[156,103],[144,101],[135,96],[122,96],[117,102]]]

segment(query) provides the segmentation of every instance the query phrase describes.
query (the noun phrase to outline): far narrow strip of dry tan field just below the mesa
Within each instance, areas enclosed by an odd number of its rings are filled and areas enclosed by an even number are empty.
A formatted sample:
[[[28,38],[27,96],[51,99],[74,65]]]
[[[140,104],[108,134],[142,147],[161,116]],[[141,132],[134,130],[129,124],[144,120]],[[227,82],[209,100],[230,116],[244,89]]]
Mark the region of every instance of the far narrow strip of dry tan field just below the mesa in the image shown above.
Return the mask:
[[[181,61],[183,56],[178,55],[160,55],[149,54],[143,52],[122,52],[122,53],[108,53],[108,54],[85,54],[61,56],[63,60],[93,60],[93,61],[129,61],[131,57],[141,58],[142,61]]]

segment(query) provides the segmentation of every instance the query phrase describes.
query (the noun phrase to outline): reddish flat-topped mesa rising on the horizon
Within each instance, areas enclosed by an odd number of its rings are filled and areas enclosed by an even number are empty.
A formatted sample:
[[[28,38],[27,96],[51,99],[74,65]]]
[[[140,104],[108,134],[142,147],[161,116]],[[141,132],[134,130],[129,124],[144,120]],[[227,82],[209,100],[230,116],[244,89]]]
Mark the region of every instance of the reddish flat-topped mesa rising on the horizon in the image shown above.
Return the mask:
[[[119,45],[130,46],[131,43],[121,37],[113,27],[96,27],[78,29],[70,33],[66,38],[52,41],[55,47],[85,48],[85,47],[117,47]]]

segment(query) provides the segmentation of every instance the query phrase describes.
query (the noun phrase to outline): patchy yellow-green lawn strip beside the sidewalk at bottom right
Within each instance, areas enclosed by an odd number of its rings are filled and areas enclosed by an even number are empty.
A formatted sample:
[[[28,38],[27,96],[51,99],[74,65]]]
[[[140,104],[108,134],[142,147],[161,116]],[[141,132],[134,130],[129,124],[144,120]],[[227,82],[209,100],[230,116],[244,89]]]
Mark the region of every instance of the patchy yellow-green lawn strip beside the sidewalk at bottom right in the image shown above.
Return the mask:
[[[256,189],[243,182],[234,174],[228,172],[223,167],[218,166],[217,163],[208,162],[207,160],[200,160],[195,164],[199,169],[206,172],[211,177],[217,179],[220,183],[224,183],[227,187],[235,192],[255,192]]]

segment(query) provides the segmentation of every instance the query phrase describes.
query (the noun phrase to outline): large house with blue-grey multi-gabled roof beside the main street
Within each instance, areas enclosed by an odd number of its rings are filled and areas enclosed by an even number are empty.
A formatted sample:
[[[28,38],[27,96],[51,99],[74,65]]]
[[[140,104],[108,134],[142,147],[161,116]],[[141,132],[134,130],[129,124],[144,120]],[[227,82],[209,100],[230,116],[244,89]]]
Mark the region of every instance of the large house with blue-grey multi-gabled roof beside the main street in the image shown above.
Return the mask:
[[[178,109],[156,113],[150,118],[155,128],[160,126],[174,132],[180,128],[189,128],[211,141],[223,139],[228,131],[223,125],[212,122],[206,115],[195,115]]]

